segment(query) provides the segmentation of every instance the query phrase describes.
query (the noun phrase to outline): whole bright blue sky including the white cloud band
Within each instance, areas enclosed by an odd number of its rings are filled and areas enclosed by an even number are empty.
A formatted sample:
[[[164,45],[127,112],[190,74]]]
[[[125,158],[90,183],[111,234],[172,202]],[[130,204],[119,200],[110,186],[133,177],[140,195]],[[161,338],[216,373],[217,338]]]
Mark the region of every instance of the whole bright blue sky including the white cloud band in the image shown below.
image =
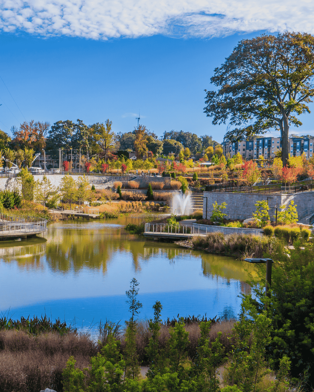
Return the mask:
[[[246,0],[190,1],[181,9],[183,3],[155,0],[141,6],[87,0],[77,8],[68,1],[40,0],[35,7],[5,0],[0,76],[18,107],[0,80],[0,128],[10,133],[24,119],[91,124],[109,118],[115,132],[128,132],[140,110],[141,123],[159,136],[182,129],[221,141],[226,125],[212,125],[203,113],[214,68],[243,38],[312,32],[312,2],[299,2],[298,11],[289,1],[280,3],[271,8],[266,1],[261,10]],[[301,120],[297,132],[313,133],[313,114]]]

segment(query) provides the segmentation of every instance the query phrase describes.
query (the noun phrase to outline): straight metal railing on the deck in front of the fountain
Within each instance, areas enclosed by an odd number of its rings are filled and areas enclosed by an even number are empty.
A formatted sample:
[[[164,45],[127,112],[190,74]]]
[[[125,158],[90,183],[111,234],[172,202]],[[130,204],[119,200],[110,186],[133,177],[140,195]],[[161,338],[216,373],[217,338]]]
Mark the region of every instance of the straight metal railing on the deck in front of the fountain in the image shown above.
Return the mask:
[[[144,234],[145,233],[153,233],[153,234],[169,234],[171,235],[179,235],[179,236],[199,236],[207,234],[206,231],[201,230],[199,232],[199,227],[195,229],[194,225],[170,225],[168,223],[145,223]]]

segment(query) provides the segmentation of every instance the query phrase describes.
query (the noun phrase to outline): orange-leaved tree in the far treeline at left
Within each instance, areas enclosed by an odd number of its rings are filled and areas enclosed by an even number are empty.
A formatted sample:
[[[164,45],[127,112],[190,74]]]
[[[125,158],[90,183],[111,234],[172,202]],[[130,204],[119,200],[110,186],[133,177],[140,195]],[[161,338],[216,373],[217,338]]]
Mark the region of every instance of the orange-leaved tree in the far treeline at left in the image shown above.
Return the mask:
[[[14,136],[13,143],[16,148],[33,148],[43,151],[46,147],[46,134],[50,127],[50,123],[35,120],[24,121],[17,128],[13,126],[11,132]]]

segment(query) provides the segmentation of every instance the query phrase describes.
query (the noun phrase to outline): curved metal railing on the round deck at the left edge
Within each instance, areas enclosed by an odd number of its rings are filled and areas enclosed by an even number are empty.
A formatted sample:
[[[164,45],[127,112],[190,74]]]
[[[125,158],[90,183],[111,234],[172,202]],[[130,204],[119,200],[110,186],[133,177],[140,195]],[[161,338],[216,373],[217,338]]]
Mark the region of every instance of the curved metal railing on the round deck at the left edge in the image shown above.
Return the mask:
[[[7,234],[30,234],[47,230],[47,220],[31,216],[20,217],[0,214],[0,236]]]

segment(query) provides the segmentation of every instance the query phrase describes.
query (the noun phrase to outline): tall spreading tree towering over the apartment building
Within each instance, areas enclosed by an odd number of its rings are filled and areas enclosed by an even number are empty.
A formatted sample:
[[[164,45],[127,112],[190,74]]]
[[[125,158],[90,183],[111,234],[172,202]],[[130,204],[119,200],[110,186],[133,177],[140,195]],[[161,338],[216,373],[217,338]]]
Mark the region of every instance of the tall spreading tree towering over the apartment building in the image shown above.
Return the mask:
[[[314,95],[314,37],[290,33],[239,42],[210,79],[218,89],[206,91],[204,113],[213,124],[229,122],[226,137],[240,140],[280,130],[283,166],[288,161],[289,126],[310,113]],[[235,129],[231,129],[234,125]]]

